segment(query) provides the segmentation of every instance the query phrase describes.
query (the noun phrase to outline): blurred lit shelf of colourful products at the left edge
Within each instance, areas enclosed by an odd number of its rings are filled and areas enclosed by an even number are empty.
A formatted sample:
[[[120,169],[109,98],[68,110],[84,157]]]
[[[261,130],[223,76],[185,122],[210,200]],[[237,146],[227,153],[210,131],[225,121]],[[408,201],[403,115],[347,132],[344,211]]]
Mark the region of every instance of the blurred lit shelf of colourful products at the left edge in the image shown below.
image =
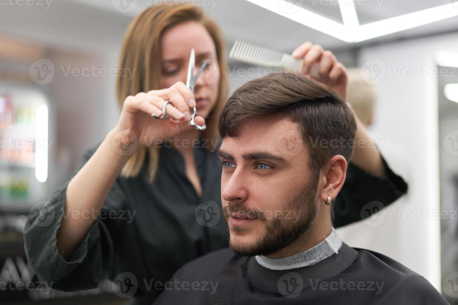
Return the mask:
[[[34,86],[0,81],[0,213],[47,196],[49,107]]]

